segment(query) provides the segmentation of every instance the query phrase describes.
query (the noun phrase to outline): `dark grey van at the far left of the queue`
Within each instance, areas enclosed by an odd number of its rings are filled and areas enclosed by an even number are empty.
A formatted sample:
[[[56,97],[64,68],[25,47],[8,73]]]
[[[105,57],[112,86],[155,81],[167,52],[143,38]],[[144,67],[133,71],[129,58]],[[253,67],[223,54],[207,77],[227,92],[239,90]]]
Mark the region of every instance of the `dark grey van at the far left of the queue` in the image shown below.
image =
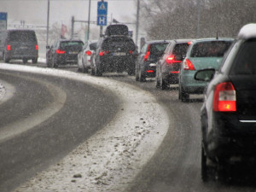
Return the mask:
[[[22,60],[38,63],[38,38],[34,30],[9,29],[0,31],[0,55],[4,62]]]

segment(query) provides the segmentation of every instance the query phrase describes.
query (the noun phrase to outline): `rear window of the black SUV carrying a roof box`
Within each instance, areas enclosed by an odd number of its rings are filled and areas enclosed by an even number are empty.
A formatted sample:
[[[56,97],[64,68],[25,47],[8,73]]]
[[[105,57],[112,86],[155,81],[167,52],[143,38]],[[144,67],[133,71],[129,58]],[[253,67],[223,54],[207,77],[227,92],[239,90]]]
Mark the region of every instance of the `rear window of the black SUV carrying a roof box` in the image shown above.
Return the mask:
[[[115,50],[117,48],[125,50],[135,50],[135,44],[131,38],[107,38],[102,44],[104,50]]]

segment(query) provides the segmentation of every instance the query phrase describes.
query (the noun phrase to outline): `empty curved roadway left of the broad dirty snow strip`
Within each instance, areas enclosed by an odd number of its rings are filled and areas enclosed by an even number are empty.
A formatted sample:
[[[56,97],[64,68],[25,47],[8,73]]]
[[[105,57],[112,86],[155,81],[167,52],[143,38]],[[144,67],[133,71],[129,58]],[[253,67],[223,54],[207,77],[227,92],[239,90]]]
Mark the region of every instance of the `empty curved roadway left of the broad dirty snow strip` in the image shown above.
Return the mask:
[[[15,86],[14,96],[0,105],[0,133],[6,125],[24,122],[54,104],[53,90],[66,94],[60,111],[43,123],[9,139],[1,134],[0,191],[15,189],[36,172],[61,160],[108,123],[119,108],[119,100],[108,90],[69,79],[9,71],[0,71],[0,79]]]

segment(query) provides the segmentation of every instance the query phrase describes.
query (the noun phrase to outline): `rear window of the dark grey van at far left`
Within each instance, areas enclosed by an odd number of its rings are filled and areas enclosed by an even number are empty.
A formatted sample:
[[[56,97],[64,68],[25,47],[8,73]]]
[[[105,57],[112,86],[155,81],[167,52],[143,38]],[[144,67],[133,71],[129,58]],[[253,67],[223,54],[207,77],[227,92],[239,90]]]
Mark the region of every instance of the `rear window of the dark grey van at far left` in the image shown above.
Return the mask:
[[[33,31],[15,31],[9,33],[11,42],[36,42],[36,33]]]

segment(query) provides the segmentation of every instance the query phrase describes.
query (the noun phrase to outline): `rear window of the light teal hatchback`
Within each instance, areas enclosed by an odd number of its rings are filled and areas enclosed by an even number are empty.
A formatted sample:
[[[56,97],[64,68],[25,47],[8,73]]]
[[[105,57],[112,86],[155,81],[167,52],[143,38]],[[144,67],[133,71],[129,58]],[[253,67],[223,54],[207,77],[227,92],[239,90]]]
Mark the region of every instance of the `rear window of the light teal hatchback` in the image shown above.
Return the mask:
[[[231,41],[200,42],[193,46],[191,57],[223,57],[230,48]]]

